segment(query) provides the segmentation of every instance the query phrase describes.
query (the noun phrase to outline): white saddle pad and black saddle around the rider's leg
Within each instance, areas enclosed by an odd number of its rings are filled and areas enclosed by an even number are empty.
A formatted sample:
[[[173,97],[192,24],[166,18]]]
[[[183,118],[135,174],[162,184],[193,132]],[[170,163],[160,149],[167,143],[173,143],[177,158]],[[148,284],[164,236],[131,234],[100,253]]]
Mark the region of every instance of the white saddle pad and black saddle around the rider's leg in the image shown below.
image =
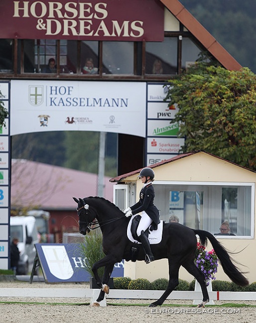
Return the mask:
[[[141,243],[136,233],[140,219],[141,216],[139,214],[136,214],[131,217],[128,223],[127,237],[131,242]],[[160,223],[157,226],[157,230],[150,231],[149,228],[145,231],[149,243],[156,244],[161,242],[163,233],[163,221],[160,221]]]

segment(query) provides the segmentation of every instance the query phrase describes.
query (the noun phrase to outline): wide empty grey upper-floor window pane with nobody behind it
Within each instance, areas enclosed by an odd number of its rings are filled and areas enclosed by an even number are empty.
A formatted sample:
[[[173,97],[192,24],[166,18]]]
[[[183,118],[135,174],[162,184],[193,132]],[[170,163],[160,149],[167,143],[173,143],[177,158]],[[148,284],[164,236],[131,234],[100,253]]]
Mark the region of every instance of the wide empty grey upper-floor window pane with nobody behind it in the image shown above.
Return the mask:
[[[103,42],[103,74],[133,75],[133,42]]]

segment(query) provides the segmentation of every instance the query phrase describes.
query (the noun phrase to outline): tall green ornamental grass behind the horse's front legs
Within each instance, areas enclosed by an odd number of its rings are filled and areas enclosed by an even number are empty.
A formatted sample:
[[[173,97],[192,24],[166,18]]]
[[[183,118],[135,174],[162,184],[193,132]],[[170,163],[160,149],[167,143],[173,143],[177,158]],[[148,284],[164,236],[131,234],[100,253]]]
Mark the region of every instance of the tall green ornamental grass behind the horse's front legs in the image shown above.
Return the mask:
[[[102,248],[102,233],[97,229],[87,234],[84,239],[84,243],[80,243],[81,256],[84,258],[85,270],[94,277],[92,272],[93,264],[105,256]],[[99,268],[98,273],[102,278],[104,267]]]

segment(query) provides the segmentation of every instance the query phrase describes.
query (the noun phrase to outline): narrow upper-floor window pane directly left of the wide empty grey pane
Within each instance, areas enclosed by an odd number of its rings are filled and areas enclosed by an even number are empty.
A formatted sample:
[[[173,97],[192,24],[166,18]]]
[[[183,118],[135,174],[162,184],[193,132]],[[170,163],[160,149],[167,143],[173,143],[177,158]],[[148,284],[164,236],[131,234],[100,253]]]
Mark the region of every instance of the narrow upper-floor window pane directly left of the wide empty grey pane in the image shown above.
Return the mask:
[[[99,42],[81,42],[81,74],[99,74]]]

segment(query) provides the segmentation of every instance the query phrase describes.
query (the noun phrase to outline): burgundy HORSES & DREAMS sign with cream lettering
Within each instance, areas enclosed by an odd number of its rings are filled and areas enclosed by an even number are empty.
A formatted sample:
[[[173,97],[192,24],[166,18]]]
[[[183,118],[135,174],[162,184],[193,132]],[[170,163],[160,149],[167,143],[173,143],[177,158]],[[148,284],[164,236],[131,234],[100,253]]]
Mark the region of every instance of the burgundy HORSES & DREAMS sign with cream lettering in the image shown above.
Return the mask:
[[[0,38],[163,41],[159,0],[0,0]]]

